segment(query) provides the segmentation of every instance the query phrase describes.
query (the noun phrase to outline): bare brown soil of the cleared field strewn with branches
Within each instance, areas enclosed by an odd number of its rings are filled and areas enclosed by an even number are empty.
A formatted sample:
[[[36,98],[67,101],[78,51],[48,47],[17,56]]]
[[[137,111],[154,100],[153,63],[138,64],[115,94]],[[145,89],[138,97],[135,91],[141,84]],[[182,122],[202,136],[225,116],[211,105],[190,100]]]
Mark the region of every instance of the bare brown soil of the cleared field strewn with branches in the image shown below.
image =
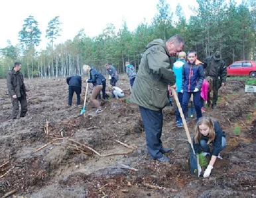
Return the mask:
[[[256,94],[245,93],[242,81],[228,81],[220,89],[218,108],[205,113],[227,134],[223,160],[210,178],[190,174],[186,133],[175,128],[175,104],[163,110],[162,142],[174,149],[166,154],[171,162],[150,160],[125,76],[117,83],[124,99],[102,103],[103,112],[96,114],[90,90],[83,115],[82,106],[67,105],[65,79],[26,80],[29,111],[15,120],[6,81],[0,82],[1,197],[11,191],[9,197],[26,198],[256,196]],[[82,97],[84,92],[83,87]],[[194,122],[188,122],[191,134]]]

